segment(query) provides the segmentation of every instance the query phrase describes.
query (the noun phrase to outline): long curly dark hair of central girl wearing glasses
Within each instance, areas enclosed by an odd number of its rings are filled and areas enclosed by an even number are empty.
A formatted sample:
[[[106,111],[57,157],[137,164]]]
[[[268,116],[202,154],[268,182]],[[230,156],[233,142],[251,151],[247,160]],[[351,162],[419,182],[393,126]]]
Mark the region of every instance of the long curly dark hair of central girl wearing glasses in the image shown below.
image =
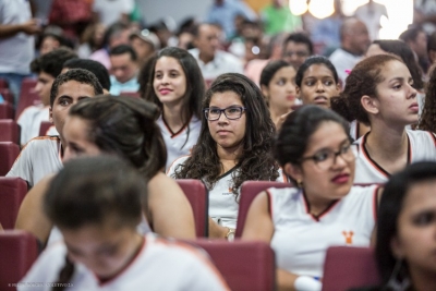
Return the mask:
[[[217,93],[233,92],[241,97],[247,108],[243,149],[238,157],[238,169],[232,173],[232,193],[238,196],[239,189],[247,180],[275,181],[279,166],[272,156],[275,125],[261,89],[246,76],[227,73],[218,76],[206,92],[203,107],[209,107]],[[202,130],[192,156],[175,168],[175,179],[202,179],[208,189],[219,180],[222,165],[217,154],[217,143],[210,135],[208,121],[202,118]]]

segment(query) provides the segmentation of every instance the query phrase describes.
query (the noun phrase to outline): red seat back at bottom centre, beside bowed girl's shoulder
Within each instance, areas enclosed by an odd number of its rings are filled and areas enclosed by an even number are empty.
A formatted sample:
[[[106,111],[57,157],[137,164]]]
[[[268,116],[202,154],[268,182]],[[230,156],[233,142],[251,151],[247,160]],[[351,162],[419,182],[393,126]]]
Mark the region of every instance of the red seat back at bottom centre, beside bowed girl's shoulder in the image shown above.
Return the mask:
[[[275,254],[269,244],[246,241],[194,241],[210,256],[233,291],[276,290]]]

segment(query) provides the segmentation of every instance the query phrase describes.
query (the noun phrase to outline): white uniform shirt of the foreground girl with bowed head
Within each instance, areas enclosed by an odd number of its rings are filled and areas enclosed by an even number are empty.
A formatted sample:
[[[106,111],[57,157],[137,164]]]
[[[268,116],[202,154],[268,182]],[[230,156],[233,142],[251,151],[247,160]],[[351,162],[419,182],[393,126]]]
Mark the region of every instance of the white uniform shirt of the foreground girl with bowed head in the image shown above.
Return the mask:
[[[114,278],[100,281],[82,264],[75,264],[74,274],[65,290],[229,290],[221,275],[207,256],[193,246],[144,237],[136,257]],[[66,246],[60,242],[48,247],[19,283],[19,291],[49,291],[57,282],[65,264]],[[39,284],[38,284],[39,283]]]

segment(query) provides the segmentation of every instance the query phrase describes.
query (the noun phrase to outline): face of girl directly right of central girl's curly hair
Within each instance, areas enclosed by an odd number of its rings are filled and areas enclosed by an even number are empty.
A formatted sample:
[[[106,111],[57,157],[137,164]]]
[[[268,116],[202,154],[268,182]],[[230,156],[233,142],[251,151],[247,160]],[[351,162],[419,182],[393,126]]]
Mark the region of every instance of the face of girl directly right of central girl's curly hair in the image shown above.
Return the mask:
[[[293,66],[283,66],[274,74],[268,87],[262,87],[269,108],[289,111],[295,104],[295,73]]]

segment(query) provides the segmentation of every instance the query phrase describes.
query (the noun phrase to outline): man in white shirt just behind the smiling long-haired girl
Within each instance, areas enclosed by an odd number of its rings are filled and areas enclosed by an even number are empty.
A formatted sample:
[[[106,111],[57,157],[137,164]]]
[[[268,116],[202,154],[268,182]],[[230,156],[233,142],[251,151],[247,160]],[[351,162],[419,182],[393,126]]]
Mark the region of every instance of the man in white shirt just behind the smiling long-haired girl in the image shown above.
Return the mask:
[[[194,46],[191,54],[197,60],[205,81],[213,81],[223,73],[243,73],[243,64],[233,54],[218,50],[218,29],[203,23],[194,29]]]

